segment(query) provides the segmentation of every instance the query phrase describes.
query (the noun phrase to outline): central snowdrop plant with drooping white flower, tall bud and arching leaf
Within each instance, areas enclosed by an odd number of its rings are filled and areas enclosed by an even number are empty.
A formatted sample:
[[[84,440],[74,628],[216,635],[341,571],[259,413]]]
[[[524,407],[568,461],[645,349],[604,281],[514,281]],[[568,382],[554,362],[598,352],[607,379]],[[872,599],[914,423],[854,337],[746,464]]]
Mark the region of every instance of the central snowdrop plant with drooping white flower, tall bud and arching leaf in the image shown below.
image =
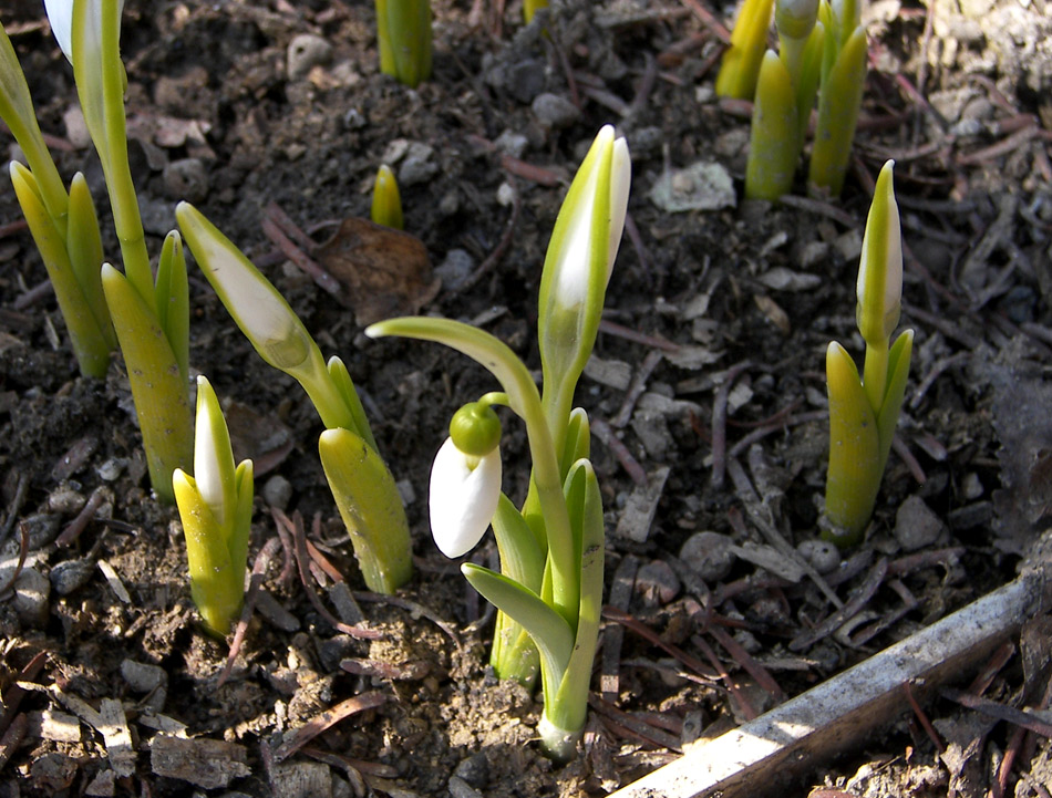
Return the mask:
[[[584,411],[574,388],[595,345],[607,281],[625,224],[628,147],[612,127],[599,132],[559,211],[540,280],[538,340],[544,394],[526,365],[493,335],[448,319],[392,319],[365,330],[451,346],[487,369],[503,388],[466,405],[435,458],[432,531],[460,556],[492,524],[501,573],[466,563],[462,572],[497,607],[491,663],[502,677],[529,684],[539,667],[542,743],[557,759],[574,756],[584,730],[602,598],[602,504],[588,462]],[[526,425],[533,470],[522,510],[499,493],[504,405]]]

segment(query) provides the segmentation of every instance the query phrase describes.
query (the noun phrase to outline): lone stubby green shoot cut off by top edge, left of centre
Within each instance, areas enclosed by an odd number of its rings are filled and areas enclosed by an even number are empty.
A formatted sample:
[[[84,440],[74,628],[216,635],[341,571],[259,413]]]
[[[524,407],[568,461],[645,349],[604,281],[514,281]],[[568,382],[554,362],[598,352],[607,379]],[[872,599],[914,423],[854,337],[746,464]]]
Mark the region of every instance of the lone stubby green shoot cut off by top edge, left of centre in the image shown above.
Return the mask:
[[[411,89],[431,77],[430,0],[377,0],[380,71]]]

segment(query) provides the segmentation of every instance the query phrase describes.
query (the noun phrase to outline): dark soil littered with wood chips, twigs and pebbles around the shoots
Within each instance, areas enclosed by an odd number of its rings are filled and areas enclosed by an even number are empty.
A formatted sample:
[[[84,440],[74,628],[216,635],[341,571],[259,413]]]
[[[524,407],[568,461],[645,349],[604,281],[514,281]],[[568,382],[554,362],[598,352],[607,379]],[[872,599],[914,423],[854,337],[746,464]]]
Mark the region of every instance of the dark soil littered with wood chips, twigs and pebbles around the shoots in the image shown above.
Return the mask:
[[[188,199],[254,258],[350,369],[414,536],[415,580],[393,599],[365,593],[318,463],[320,422],[192,272],[193,369],[227,403],[237,456],[257,465],[250,557],[276,536],[277,507],[306,519],[345,580],[319,570],[305,583],[283,549],[268,550],[259,612],[221,685],[229,646],[198,625],[123,364],[104,382],[78,375],[13,194],[0,196],[0,795],[605,795],[1009,581],[1048,526],[1046,0],[868,7],[870,73],[843,196],[805,199],[801,180],[780,205],[741,199],[747,107],[712,91],[720,39],[702,12],[725,20],[731,7],[577,0],[524,27],[519,3],[504,6],[435,0],[434,75],[410,90],[379,73],[372,3],[127,3],[131,156],[152,251]],[[85,172],[110,230],[40,4],[10,0],[3,23],[60,170]],[[558,767],[536,746],[537,697],[487,670],[492,613],[429,535],[431,458],[452,413],[494,385],[453,352],[361,330],[394,313],[463,319],[539,370],[544,250],[605,123],[631,147],[631,219],[578,401],[596,432],[610,607],[582,755]],[[823,353],[831,340],[863,351],[855,274],[887,158],[914,365],[873,525],[839,555],[816,542]],[[368,217],[384,162],[430,263],[381,257],[383,273],[362,276],[339,239],[317,245]],[[670,209],[684,191],[699,199],[684,172],[695,164],[715,175],[699,200],[715,207]],[[276,221],[311,241],[279,245]],[[337,294],[290,252],[332,271]],[[505,489],[520,500],[525,436],[510,421],[503,448]],[[787,550],[839,600],[891,568],[859,614],[811,640],[836,607]],[[494,556],[486,543],[471,557]],[[338,632],[308,590],[331,611],[357,599],[379,636]],[[1048,663],[1040,641],[1022,649]],[[1048,670],[1019,659],[994,669],[986,695],[1046,709]],[[777,690],[750,675],[755,663]],[[1014,726],[946,701],[929,713],[935,737],[904,705],[898,726],[812,785],[1048,795],[1046,739],[1020,744]],[[956,755],[940,756],[939,736]]]

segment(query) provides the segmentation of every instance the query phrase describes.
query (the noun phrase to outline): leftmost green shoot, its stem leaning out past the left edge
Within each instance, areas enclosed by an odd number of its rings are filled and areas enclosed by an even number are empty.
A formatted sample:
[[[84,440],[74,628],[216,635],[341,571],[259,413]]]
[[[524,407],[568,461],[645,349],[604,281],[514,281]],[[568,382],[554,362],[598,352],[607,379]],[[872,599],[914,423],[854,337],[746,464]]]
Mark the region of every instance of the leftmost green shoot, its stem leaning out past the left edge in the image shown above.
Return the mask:
[[[54,287],[59,310],[81,374],[103,377],[116,346],[99,269],[102,237],[84,176],[73,177],[70,193],[48,152],[14,48],[0,25],[0,117],[25,156],[29,168],[10,166],[22,215]]]

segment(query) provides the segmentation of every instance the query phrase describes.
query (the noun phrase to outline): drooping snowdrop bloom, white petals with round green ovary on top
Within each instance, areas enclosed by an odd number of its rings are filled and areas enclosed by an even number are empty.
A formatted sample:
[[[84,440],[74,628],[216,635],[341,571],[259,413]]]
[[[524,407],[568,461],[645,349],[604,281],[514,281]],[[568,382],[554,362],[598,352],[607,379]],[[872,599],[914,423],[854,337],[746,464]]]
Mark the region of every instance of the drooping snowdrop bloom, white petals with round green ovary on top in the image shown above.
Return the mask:
[[[453,416],[431,468],[431,533],[455,559],[482,540],[501,498],[501,422],[487,404],[472,402]]]

